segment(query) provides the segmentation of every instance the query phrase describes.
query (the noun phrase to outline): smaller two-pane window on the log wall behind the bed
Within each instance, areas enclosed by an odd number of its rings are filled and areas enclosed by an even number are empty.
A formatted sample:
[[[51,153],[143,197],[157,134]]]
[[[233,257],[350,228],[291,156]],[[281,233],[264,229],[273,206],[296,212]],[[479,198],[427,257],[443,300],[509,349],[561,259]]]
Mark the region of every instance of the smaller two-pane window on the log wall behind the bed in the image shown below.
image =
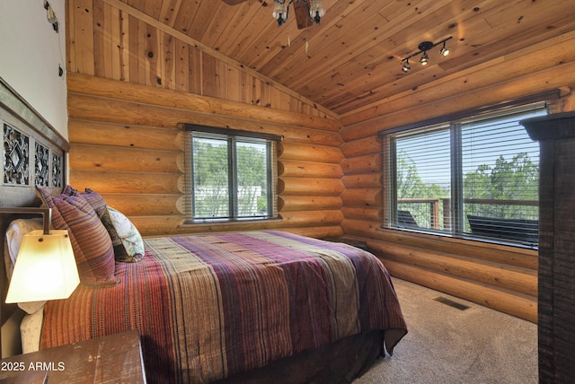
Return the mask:
[[[274,137],[206,127],[187,141],[188,223],[275,216]]]

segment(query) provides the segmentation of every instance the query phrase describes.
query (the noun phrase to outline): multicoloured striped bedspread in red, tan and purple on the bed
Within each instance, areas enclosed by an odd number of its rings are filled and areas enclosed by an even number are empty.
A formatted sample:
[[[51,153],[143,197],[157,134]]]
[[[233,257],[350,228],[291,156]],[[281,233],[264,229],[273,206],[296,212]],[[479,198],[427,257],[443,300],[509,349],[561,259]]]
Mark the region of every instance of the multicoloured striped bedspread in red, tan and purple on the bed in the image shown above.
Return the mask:
[[[149,382],[209,382],[341,337],[405,323],[385,267],[354,247],[281,231],[146,239],[119,285],[80,285],[45,307],[48,348],[128,329]]]

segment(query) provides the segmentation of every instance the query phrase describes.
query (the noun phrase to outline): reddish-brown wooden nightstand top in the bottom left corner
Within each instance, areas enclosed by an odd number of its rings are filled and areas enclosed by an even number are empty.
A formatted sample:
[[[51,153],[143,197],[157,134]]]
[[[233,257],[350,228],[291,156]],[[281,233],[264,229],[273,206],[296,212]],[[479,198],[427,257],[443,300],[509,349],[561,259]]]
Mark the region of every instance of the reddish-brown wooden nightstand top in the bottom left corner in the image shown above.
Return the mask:
[[[132,330],[7,357],[0,362],[0,381],[146,383],[140,338]]]

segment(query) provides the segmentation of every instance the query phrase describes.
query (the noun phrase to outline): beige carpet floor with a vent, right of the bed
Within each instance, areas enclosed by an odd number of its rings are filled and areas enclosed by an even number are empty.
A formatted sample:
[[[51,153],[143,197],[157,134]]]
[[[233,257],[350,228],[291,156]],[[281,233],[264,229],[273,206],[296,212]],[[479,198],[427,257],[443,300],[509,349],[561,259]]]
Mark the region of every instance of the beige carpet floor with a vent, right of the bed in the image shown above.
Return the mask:
[[[353,384],[537,383],[535,324],[403,280],[394,286],[409,332]]]

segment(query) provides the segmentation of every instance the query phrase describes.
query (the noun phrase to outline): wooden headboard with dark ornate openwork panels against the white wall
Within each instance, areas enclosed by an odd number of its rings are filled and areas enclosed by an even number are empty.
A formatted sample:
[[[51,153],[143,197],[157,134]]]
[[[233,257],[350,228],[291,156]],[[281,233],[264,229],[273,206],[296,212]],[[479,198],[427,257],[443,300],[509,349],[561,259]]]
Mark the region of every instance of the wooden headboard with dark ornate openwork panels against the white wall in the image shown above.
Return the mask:
[[[70,145],[48,121],[14,92],[0,77],[0,130],[3,135],[0,206],[40,206],[36,186],[57,194],[66,186],[66,153]],[[4,266],[4,233],[16,216],[0,214],[0,313],[1,325],[15,306],[4,303],[7,284]],[[22,218],[22,216],[17,216]],[[5,343],[2,343],[3,346]]]

